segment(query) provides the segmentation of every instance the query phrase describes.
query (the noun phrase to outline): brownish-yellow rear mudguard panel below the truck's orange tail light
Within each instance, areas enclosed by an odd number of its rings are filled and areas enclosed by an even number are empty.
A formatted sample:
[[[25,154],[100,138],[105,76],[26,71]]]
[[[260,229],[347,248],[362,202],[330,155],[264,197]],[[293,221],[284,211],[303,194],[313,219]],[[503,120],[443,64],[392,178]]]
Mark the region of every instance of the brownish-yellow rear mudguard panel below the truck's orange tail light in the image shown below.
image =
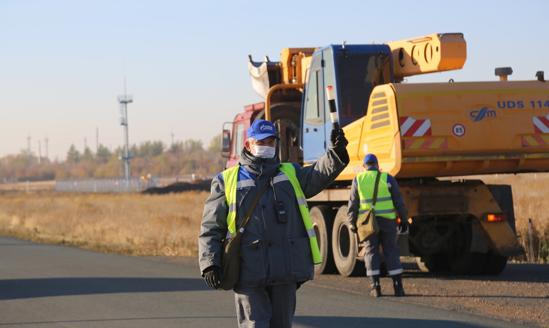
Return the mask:
[[[481,220],[478,227],[486,237],[491,250],[501,256],[523,255],[526,251],[519,244],[517,236],[508,222],[488,222]]]

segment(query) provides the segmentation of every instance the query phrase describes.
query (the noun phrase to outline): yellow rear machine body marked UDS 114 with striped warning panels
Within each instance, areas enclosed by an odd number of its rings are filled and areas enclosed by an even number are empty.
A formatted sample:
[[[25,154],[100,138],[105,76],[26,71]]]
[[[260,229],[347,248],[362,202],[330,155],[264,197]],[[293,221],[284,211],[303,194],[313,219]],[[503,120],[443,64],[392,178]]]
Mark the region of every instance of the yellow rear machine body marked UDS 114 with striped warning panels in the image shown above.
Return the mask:
[[[344,127],[354,178],[376,154],[401,178],[544,172],[549,167],[549,83],[384,84],[367,115]]]

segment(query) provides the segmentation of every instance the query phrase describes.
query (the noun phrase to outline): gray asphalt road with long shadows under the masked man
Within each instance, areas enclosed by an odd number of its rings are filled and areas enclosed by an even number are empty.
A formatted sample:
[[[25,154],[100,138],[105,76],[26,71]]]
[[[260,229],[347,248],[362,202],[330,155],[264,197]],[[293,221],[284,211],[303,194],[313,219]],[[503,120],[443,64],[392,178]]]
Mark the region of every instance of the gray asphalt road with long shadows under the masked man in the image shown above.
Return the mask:
[[[513,327],[457,311],[303,285],[294,327]],[[236,327],[232,291],[196,265],[0,236],[0,326]]]

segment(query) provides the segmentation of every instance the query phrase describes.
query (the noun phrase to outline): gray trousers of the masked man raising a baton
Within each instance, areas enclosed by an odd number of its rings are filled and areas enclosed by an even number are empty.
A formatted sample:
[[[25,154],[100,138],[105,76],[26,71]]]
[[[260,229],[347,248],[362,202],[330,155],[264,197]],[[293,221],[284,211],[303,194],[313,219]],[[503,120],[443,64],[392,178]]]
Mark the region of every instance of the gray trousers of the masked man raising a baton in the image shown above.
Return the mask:
[[[295,282],[233,290],[239,327],[292,327]]]

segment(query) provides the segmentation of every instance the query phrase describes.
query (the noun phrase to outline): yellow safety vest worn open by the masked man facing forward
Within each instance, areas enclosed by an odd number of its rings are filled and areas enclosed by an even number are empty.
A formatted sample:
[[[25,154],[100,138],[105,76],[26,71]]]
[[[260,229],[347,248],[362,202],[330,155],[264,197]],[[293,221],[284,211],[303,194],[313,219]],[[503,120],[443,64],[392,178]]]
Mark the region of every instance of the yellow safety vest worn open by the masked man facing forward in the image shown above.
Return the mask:
[[[229,234],[232,235],[236,234],[236,201],[239,168],[240,166],[237,165],[228,168],[221,173],[223,176],[223,181],[225,182],[225,199],[229,208],[229,212],[227,213],[227,225],[229,229]],[[320,256],[318,242],[316,241],[315,228],[313,228],[311,217],[309,216],[309,207],[307,206],[305,194],[303,193],[303,190],[301,190],[301,185],[299,184],[298,179],[295,176],[295,168],[291,163],[282,163],[281,167],[279,167],[279,170],[288,177],[288,180],[290,181],[290,183],[292,183],[292,186],[294,187],[295,197],[299,205],[299,212],[301,213],[301,218],[303,219],[305,229],[307,230],[307,235],[309,236],[313,263],[320,264],[322,263],[322,257]]]

